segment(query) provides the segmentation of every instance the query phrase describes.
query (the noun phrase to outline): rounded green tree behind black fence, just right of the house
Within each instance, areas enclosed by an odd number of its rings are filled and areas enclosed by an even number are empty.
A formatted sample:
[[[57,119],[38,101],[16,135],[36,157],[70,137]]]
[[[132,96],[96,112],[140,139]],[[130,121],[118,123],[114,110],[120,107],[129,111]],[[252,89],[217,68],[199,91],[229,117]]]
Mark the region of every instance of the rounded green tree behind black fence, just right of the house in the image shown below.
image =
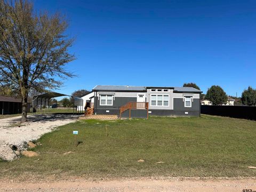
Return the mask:
[[[219,85],[213,85],[205,94],[205,99],[212,101],[213,105],[222,105],[227,102],[228,97]]]

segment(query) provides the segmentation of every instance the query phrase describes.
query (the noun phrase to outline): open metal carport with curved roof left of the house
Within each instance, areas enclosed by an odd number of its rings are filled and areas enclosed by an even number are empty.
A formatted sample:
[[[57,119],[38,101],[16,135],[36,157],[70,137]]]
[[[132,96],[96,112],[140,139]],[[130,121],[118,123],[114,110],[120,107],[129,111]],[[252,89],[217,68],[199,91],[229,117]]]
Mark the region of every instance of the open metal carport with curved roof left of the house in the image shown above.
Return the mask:
[[[83,99],[74,97],[72,95],[62,94],[62,93],[56,93],[56,92],[47,92],[43,94],[38,94],[33,96],[32,106],[33,111],[34,108],[39,106],[49,106],[50,99],[56,98],[56,97],[62,97],[62,96],[68,96],[74,99],[73,103],[73,114],[75,114],[75,107],[78,108],[78,113],[80,111],[83,111]],[[77,109],[76,109],[77,112]],[[82,113],[82,112],[81,112]]]

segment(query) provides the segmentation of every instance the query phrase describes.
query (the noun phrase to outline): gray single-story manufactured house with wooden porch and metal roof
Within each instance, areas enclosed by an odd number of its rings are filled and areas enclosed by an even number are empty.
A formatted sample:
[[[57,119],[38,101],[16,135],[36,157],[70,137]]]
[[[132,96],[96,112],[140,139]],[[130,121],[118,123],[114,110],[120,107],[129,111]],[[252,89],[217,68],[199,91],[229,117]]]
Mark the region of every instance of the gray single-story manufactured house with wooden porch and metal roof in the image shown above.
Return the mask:
[[[148,114],[200,115],[202,91],[193,87],[97,85],[92,91],[95,115],[122,114],[122,117],[147,117]]]

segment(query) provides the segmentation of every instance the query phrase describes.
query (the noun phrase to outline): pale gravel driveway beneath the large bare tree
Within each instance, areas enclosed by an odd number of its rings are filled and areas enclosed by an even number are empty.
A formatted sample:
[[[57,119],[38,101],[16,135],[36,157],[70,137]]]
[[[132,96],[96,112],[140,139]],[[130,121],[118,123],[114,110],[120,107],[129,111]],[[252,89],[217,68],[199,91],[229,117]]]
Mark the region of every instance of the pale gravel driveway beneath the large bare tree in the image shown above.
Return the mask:
[[[75,122],[78,117],[67,114],[30,115],[28,122],[23,124],[20,124],[21,117],[0,119],[0,158],[12,161],[17,158],[13,149],[24,150],[28,141],[36,140],[58,126]]]

